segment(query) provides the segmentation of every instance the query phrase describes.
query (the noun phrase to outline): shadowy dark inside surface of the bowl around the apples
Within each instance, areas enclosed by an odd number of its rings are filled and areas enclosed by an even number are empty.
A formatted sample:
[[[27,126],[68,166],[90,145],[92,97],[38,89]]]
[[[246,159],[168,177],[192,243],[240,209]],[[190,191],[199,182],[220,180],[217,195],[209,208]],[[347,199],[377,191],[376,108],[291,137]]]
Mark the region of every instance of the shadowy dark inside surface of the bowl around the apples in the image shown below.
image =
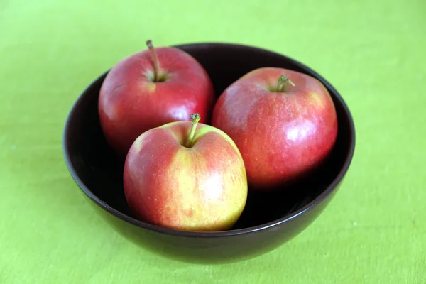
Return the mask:
[[[241,45],[206,43],[178,45],[196,58],[212,79],[217,97],[232,82],[258,67],[284,67],[319,79],[328,89],[337,109],[339,134],[329,159],[309,178],[283,191],[249,191],[246,208],[233,229],[243,229],[273,222],[310,204],[334,180],[342,178],[353,154],[353,124],[344,101],[336,90],[316,72],[283,55]],[[124,197],[123,161],[107,145],[99,125],[97,98],[106,74],[95,80],[77,100],[65,129],[65,154],[74,178],[111,209],[134,218]]]

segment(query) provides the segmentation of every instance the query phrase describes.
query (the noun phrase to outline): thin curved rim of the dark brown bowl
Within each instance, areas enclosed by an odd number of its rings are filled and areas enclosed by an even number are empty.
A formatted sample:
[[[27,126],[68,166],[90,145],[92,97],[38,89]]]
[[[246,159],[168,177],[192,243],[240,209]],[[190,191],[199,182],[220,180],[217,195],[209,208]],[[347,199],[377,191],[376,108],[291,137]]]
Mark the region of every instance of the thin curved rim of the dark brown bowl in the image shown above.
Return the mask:
[[[342,104],[342,107],[344,109],[344,113],[347,116],[347,119],[349,121],[349,135],[350,135],[350,141],[349,141],[349,150],[346,152],[346,157],[344,159],[344,164],[342,168],[339,170],[339,173],[334,178],[334,180],[327,186],[325,190],[323,190],[320,195],[315,197],[314,200],[311,202],[305,204],[304,206],[300,207],[299,209],[295,210],[294,212],[291,212],[290,214],[285,215],[284,217],[281,217],[279,219],[275,219],[271,222],[267,222],[265,224],[260,224],[257,226],[250,226],[247,228],[242,229],[234,229],[234,230],[228,230],[228,231],[182,231],[177,229],[168,229],[163,226],[157,226],[154,224],[149,224],[147,222],[140,221],[138,219],[135,219],[133,217],[130,217],[127,214],[124,214],[120,212],[117,209],[112,208],[107,204],[106,202],[102,201],[97,197],[97,195],[94,195],[94,193],[89,190],[89,187],[87,187],[84,182],[80,179],[80,177],[77,174],[77,171],[75,170],[74,166],[71,162],[70,152],[67,146],[67,141],[69,140],[70,136],[70,121],[72,116],[74,115],[76,109],[78,108],[79,104],[81,104],[82,100],[85,96],[87,96],[87,93],[94,88],[94,85],[99,82],[99,80],[102,80],[102,77],[106,76],[107,72],[104,72],[104,74],[97,77],[96,80],[93,80],[80,94],[80,96],[77,98],[75,103],[72,105],[70,112],[67,116],[67,119],[65,121],[65,129],[63,131],[62,136],[62,152],[65,158],[65,164],[67,165],[68,171],[70,172],[70,175],[75,180],[77,185],[80,187],[82,192],[84,192],[87,197],[89,197],[92,202],[97,204],[97,206],[104,209],[109,214],[113,215],[114,217],[117,217],[121,219],[124,222],[128,222],[129,224],[132,224],[133,226],[141,227],[141,229],[147,229],[150,231],[155,231],[160,234],[167,234],[167,235],[173,235],[173,236],[181,236],[181,237],[192,237],[192,238],[218,238],[218,237],[225,237],[225,236],[236,236],[241,234],[250,234],[256,231],[264,231],[266,229],[270,229],[274,226],[279,226],[285,222],[290,222],[291,220],[295,219],[296,217],[299,217],[300,215],[304,214],[305,212],[310,211],[314,207],[317,206],[317,204],[320,204],[320,202],[324,201],[334,190],[337,190],[337,187],[340,182],[344,179],[344,176],[346,175],[347,171],[349,170],[349,167],[351,165],[351,160],[354,157],[354,151],[355,151],[355,126],[354,126],[354,119],[351,115],[351,111],[349,111],[349,107],[347,106],[346,102],[344,102],[344,99],[341,97],[339,92],[330,84],[327,80],[324,79],[320,74],[312,70],[310,67],[307,67],[307,65],[302,64],[302,62],[299,62],[297,60],[294,60],[293,58],[289,58],[286,55],[276,53],[272,50],[268,50],[265,48],[257,47],[254,45],[243,45],[239,43],[218,43],[218,42],[205,42],[205,43],[184,43],[180,45],[170,45],[174,48],[202,48],[202,47],[208,47],[208,48],[215,48],[215,47],[226,47],[226,48],[234,48],[234,49],[246,49],[246,50],[253,50],[260,53],[268,53],[270,55],[279,56],[281,58],[284,58],[285,60],[288,60],[293,65],[297,65],[302,70],[305,70],[306,72],[310,72],[314,77],[317,78],[317,80],[320,80],[322,84],[324,84],[327,89],[332,91],[332,95],[335,97],[334,99],[337,99],[340,104]]]

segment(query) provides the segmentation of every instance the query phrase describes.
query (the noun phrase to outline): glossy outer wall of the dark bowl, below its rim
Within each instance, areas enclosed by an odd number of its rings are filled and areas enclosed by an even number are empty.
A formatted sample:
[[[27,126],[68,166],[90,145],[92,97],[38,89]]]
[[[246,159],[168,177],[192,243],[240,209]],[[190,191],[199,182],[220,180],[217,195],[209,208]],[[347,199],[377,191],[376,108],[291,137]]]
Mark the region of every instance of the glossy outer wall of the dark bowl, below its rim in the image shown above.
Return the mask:
[[[133,241],[134,244],[142,246],[143,249],[180,261],[214,264],[247,260],[277,248],[306,229],[332,200],[335,192],[332,192],[315,209],[300,214],[283,224],[251,234],[197,238],[196,240],[185,236],[170,236],[135,226],[109,214],[93,202],[91,204],[114,229],[126,239]]]

